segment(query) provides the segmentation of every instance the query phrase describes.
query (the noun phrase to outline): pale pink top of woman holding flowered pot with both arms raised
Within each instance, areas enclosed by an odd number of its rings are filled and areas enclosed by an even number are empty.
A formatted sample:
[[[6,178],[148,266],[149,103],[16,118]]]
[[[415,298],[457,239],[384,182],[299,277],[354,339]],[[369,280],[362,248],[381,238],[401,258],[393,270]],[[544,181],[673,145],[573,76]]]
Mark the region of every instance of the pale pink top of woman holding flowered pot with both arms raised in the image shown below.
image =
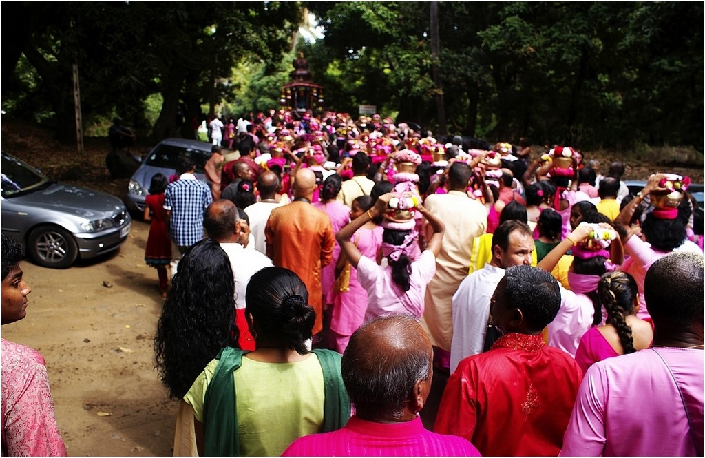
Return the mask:
[[[411,288],[403,291],[392,279],[392,267],[377,265],[362,256],[357,263],[357,279],[367,291],[367,312],[364,320],[391,313],[410,313],[420,318],[424,313],[424,294],[431,278],[436,275],[436,256],[424,250],[411,263]]]

